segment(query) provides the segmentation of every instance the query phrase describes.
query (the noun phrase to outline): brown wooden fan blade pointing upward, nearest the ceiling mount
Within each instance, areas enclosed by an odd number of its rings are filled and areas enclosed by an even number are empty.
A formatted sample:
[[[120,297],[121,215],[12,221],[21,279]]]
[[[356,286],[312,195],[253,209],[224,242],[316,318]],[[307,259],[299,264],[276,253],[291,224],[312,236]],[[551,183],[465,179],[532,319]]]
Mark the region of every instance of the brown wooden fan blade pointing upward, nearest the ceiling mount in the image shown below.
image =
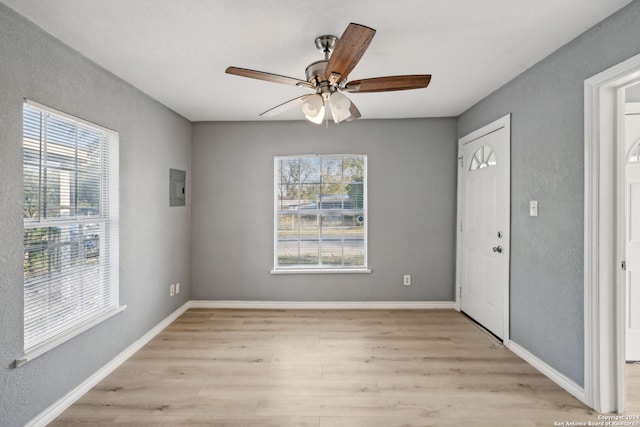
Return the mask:
[[[373,28],[351,23],[338,40],[325,69],[325,77],[332,83],[346,79],[358,64],[376,34]],[[332,76],[333,74],[333,76]]]

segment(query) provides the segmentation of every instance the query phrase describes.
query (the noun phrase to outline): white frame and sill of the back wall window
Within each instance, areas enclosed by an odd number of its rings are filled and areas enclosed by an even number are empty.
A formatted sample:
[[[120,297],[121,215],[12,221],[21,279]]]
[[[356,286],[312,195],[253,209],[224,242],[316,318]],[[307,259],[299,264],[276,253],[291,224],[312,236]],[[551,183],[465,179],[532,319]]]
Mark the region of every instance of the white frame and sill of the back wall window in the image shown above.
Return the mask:
[[[364,159],[364,177],[363,177],[363,207],[362,212],[364,216],[363,233],[364,233],[364,265],[362,266],[326,266],[321,267],[319,265],[295,265],[295,266],[281,266],[278,265],[278,180],[279,180],[279,166],[278,162],[282,159],[293,158],[348,158],[348,157],[362,157]],[[368,258],[368,242],[369,242],[369,211],[368,211],[368,171],[367,171],[367,155],[366,154],[313,154],[313,155],[281,155],[274,156],[274,180],[273,180],[273,270],[271,274],[324,274],[324,273],[371,273],[369,269]],[[321,213],[323,210],[317,210]]]

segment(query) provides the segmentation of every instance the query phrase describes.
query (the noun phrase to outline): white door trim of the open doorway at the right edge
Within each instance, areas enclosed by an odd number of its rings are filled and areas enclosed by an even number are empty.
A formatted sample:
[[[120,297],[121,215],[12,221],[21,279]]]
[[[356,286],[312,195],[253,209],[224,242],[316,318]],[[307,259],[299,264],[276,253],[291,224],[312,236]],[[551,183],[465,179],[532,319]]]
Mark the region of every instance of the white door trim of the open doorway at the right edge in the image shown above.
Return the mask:
[[[618,92],[639,78],[636,55],[584,82],[584,389],[599,412],[624,407]]]

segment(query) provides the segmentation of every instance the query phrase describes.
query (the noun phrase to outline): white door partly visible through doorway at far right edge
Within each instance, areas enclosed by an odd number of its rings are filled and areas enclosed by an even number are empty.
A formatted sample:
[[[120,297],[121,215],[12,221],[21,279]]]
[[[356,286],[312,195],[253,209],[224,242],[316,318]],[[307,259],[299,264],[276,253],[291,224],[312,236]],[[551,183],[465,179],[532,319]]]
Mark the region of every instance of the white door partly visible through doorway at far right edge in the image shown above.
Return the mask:
[[[627,291],[626,360],[640,360],[640,142],[626,165],[625,256]]]

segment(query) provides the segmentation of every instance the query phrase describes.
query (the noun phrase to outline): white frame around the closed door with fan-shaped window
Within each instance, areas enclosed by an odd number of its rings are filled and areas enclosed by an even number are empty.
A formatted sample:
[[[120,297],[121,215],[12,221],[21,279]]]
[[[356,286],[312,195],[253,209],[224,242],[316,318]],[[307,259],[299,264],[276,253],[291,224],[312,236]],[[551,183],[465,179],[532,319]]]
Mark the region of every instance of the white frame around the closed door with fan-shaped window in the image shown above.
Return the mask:
[[[504,297],[504,324],[503,324],[503,344],[509,345],[509,310],[510,310],[510,300],[509,300],[509,283],[510,283],[510,264],[511,264],[511,114],[507,114],[502,116],[501,118],[489,123],[477,129],[474,132],[471,132],[462,138],[458,139],[458,184],[457,184],[457,216],[456,216],[456,286],[455,286],[455,309],[457,311],[461,311],[460,307],[460,280],[462,279],[462,212],[464,207],[464,200],[462,197],[462,153],[465,144],[468,144],[471,141],[475,141],[478,138],[481,138],[485,135],[488,135],[492,132],[500,130],[504,128],[507,132],[507,158],[508,162],[505,165],[507,168],[508,179],[506,182],[506,191],[505,191],[505,205],[504,208],[507,210],[507,223],[505,224],[505,234],[509,239],[507,242],[506,250],[503,255],[507,257],[507,283],[505,285],[505,289],[503,289],[503,297]]]

